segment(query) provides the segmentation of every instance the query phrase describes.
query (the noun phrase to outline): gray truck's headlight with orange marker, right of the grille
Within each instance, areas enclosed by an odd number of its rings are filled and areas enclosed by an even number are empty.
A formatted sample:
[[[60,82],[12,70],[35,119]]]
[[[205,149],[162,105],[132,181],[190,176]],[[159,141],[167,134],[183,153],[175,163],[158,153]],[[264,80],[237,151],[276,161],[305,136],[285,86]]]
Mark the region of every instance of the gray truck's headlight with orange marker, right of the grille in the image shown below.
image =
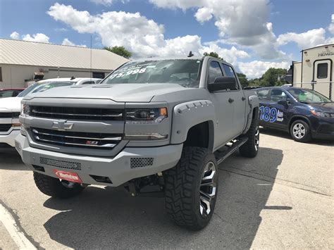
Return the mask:
[[[130,108],[126,110],[126,124],[156,124],[167,118],[167,108]]]

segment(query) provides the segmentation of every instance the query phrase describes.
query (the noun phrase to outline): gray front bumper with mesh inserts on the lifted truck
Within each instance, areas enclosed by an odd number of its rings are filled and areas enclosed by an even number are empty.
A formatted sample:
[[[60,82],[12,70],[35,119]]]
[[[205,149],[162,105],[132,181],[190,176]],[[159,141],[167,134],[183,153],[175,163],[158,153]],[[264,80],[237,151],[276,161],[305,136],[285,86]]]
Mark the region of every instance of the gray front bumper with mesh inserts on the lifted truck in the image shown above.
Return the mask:
[[[16,150],[33,171],[56,177],[54,170],[77,173],[82,183],[117,187],[129,180],[154,175],[178,163],[183,144],[159,147],[125,147],[113,157],[79,156],[32,148],[23,135],[16,137]],[[44,172],[35,166],[43,167]],[[109,177],[112,183],[97,182],[92,177]]]

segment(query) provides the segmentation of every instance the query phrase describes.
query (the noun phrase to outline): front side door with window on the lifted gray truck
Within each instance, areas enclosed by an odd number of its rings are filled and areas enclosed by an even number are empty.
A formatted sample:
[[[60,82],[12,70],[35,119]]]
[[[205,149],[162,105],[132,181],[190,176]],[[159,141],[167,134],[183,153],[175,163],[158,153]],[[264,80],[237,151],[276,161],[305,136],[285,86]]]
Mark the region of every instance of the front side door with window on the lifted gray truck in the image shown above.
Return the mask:
[[[216,77],[223,77],[221,63],[209,61],[206,84],[214,84]],[[232,98],[230,92],[217,91],[211,92],[210,98],[216,110],[214,148],[218,148],[233,139],[233,103],[228,99]]]

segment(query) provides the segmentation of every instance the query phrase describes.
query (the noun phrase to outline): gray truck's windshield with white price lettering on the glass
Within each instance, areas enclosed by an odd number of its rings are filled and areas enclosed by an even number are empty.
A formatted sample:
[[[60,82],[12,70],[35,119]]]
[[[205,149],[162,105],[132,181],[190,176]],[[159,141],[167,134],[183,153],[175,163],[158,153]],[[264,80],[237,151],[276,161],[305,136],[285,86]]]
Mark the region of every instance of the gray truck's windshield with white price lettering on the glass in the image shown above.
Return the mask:
[[[125,63],[101,84],[172,83],[199,87],[202,60],[181,59]]]

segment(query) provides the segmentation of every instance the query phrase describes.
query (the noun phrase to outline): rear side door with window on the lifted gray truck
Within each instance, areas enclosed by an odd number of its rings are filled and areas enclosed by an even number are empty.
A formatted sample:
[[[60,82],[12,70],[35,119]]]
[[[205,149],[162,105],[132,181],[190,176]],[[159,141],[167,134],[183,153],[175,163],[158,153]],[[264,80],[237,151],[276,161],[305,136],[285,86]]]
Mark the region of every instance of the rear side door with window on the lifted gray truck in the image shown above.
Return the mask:
[[[231,89],[228,94],[229,101],[232,101],[231,104],[233,104],[233,134],[237,136],[241,135],[245,127],[247,100],[233,68],[225,63],[222,65],[225,76],[235,77],[235,89]]]

